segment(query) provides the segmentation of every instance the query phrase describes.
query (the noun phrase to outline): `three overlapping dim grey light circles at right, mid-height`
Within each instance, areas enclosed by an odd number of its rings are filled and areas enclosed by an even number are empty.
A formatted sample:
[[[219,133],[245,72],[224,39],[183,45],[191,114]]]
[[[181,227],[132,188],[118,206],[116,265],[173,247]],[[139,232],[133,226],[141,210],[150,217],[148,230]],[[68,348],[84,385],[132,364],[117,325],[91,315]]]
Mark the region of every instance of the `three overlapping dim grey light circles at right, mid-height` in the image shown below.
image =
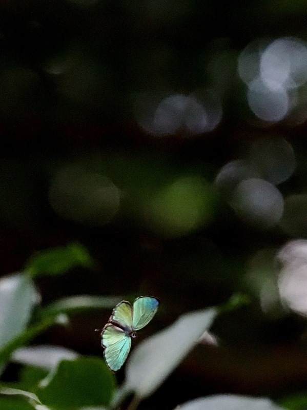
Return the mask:
[[[283,227],[289,224],[291,203],[286,198],[284,205],[276,185],[288,180],[295,167],[296,158],[289,142],[264,136],[249,145],[245,159],[224,165],[215,178],[215,185],[245,222],[262,228],[280,222]]]

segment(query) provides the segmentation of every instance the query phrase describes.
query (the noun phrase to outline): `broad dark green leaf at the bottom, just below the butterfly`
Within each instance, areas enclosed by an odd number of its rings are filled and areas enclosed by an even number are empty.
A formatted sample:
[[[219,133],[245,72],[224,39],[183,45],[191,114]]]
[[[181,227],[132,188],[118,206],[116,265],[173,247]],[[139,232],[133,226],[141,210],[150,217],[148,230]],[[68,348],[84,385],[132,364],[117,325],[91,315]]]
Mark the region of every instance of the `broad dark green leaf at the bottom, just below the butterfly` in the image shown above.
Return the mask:
[[[37,395],[54,409],[107,406],[115,388],[115,378],[103,360],[80,357],[63,360],[42,380]]]

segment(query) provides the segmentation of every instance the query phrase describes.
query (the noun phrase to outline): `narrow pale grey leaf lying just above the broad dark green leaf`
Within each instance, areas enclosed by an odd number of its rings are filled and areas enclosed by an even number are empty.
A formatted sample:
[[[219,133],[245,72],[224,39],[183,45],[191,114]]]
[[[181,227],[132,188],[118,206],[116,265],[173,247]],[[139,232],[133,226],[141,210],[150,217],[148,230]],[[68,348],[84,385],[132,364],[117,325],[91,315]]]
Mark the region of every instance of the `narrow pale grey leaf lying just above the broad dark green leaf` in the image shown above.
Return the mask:
[[[74,360],[78,356],[78,353],[66,347],[43,344],[18,348],[11,361],[52,370],[61,360]]]

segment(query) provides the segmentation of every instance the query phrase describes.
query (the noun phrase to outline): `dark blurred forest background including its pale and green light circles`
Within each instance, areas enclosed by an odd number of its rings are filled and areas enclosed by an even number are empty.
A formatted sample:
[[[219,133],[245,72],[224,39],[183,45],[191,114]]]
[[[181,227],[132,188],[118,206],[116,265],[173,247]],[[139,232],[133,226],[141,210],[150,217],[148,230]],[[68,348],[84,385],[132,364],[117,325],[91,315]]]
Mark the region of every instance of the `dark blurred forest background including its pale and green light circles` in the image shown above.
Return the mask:
[[[94,266],[38,277],[42,304],[153,295],[134,346],[250,297],[141,408],[307,392],[306,21],[301,0],[0,4],[1,275],[82,244]],[[32,343],[102,357],[110,312]]]

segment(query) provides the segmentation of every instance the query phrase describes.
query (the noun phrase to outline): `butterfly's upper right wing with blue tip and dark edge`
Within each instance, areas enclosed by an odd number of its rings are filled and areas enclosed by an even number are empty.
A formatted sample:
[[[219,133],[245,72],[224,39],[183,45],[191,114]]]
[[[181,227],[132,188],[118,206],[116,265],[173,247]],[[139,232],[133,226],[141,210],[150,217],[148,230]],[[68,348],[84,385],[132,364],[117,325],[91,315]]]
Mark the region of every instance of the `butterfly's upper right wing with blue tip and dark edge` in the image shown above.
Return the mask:
[[[152,296],[141,296],[133,303],[132,326],[135,331],[142,329],[154,317],[159,301]]]

